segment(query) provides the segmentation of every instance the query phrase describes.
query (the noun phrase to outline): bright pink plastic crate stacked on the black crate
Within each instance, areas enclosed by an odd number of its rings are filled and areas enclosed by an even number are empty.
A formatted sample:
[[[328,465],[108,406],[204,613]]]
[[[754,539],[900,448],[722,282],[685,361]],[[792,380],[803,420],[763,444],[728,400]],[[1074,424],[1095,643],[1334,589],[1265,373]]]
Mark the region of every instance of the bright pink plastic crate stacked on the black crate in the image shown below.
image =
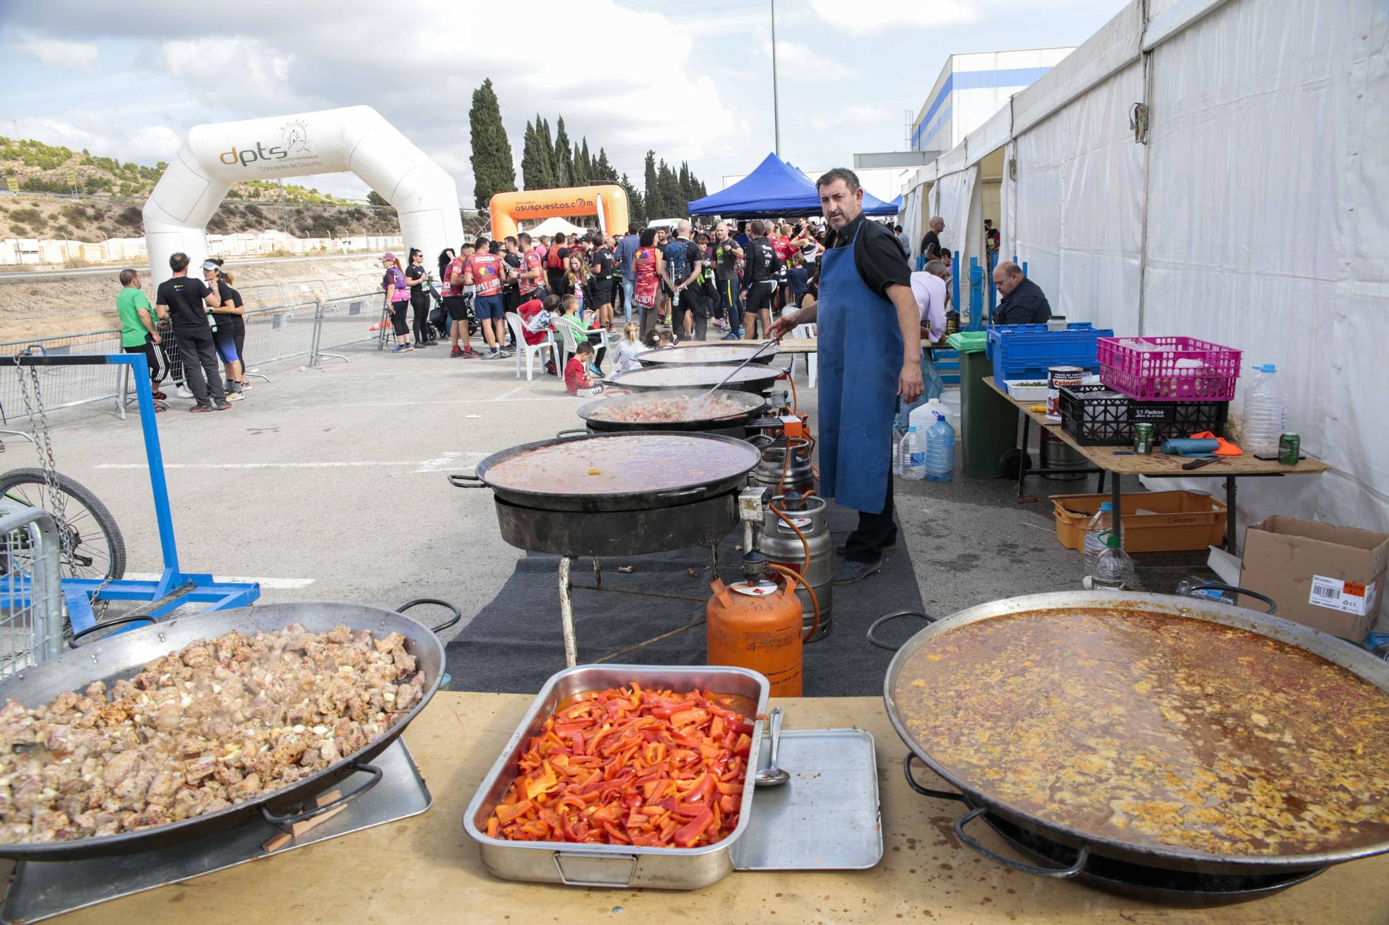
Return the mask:
[[[1100,382],[1136,401],[1229,401],[1242,351],[1196,338],[1100,338]]]

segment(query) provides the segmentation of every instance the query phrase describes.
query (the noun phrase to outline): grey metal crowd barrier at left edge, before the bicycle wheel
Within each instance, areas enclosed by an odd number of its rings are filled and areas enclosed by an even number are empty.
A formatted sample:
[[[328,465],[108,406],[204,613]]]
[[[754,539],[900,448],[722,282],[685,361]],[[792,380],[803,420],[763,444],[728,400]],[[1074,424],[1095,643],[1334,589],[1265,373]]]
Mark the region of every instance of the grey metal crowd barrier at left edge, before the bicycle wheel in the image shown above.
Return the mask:
[[[61,578],[53,515],[0,500],[0,678],[63,654]]]

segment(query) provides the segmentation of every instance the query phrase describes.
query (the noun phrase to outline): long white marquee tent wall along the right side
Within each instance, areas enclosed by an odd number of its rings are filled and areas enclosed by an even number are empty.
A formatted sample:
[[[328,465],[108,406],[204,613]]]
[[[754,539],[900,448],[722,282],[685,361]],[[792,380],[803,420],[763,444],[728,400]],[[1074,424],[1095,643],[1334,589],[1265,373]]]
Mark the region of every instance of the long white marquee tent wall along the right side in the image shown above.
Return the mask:
[[[1275,362],[1289,429],[1332,471],[1243,481],[1246,524],[1389,531],[1383,8],[1147,0],[1145,22],[1133,0],[906,192],[915,239],[942,215],[945,246],[982,262],[976,179],[1001,153],[1001,253],[1053,310],[1239,347],[1240,388]]]

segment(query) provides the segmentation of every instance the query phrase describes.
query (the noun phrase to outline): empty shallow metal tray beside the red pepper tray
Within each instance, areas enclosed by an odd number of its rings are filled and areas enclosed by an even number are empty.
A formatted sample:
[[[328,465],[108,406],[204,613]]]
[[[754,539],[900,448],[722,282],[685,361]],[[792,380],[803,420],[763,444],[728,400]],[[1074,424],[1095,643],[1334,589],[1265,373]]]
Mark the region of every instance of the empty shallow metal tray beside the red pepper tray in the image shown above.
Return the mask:
[[[767,767],[771,742],[764,742]],[[776,764],[790,772],[758,788],[738,871],[861,871],[882,860],[878,757],[863,729],[783,729]]]

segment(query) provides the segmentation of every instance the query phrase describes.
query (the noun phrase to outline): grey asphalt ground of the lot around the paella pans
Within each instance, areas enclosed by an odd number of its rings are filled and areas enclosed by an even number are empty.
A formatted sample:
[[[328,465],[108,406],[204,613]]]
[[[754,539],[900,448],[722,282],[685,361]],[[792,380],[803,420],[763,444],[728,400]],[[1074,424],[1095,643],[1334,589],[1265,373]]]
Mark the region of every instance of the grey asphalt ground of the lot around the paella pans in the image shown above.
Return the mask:
[[[193,415],[192,401],[174,400],[158,415],[182,568],[261,581],[263,601],[397,607],[440,597],[460,607],[467,625],[499,599],[524,553],[501,542],[490,492],[456,489],[446,475],[579,425],[575,410],[585,400],[553,376],[517,378],[511,360],[454,360],[447,347],[386,354],[363,344],[344,353],[347,362],[328,360],[322,369],[260,367],[271,382],[257,381],[229,411]],[[800,385],[799,393],[814,428],[815,390]],[[138,412],[121,421],[99,403],[51,421],[58,469],[115,514],[128,572],[158,572]],[[7,446],[7,465],[35,464],[28,443]],[[1086,485],[1093,479],[1036,479],[1029,493],[1043,500],[1020,506],[1007,479],[899,481],[900,542],[926,611],[1079,588],[1081,556],[1056,540],[1045,496]],[[1125,490],[1140,489],[1135,482]],[[1165,590],[1203,561],[1204,553],[1140,557],[1140,582]],[[557,593],[554,606],[558,636]],[[840,607],[853,607],[853,594],[836,592]]]

